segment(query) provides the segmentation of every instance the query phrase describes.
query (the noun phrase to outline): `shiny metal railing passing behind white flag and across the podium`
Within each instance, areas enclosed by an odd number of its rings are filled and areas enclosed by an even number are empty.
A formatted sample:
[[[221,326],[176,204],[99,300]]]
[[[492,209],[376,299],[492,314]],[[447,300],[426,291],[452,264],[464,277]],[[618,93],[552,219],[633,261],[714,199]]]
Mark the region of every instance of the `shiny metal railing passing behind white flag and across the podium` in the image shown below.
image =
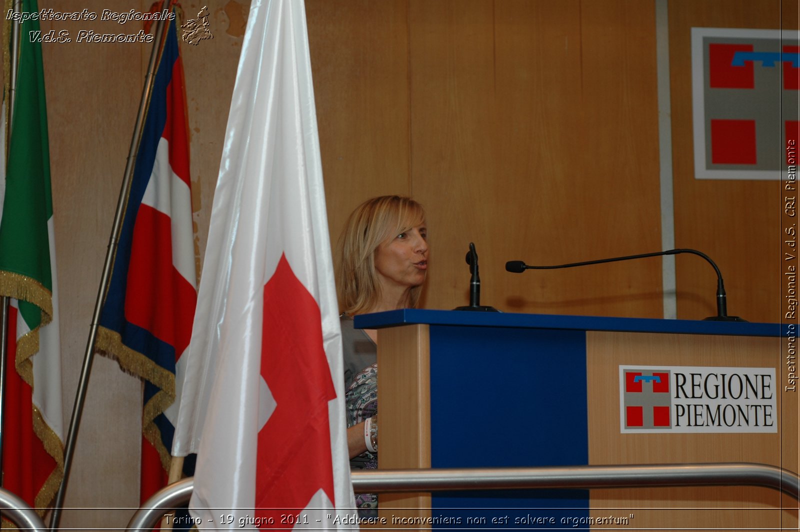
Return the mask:
[[[663,486],[762,486],[800,499],[800,477],[775,466],[751,463],[662,466],[512,467],[353,471],[356,493],[438,490],[594,489]],[[164,514],[189,502],[194,478],[170,484],[148,499],[128,530],[148,532]]]

